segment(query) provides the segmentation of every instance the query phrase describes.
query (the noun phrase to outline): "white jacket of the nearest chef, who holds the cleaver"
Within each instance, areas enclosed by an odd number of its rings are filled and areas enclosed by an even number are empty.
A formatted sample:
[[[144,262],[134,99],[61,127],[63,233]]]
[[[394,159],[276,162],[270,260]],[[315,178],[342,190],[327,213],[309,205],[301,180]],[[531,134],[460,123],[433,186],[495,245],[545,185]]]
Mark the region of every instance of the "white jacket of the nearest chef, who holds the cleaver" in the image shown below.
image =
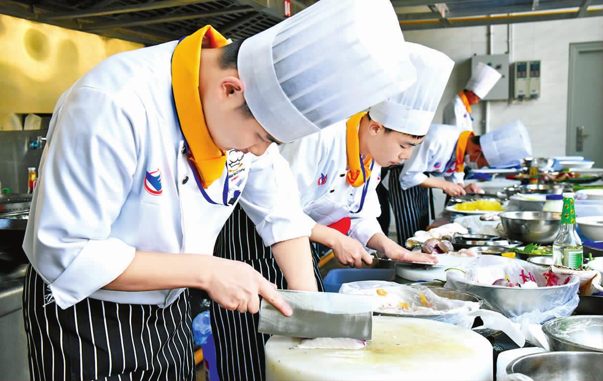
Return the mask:
[[[230,151],[228,170],[207,188],[195,182],[172,103],[177,42],[114,55],[59,99],[40,162],[23,248],[68,308],[86,297],[166,306],[184,290],[100,290],[135,250],[212,255],[241,203],[268,246],[311,235],[288,164],[276,144],[262,156]],[[247,185],[247,186],[245,186]],[[194,271],[195,269],[191,269]]]

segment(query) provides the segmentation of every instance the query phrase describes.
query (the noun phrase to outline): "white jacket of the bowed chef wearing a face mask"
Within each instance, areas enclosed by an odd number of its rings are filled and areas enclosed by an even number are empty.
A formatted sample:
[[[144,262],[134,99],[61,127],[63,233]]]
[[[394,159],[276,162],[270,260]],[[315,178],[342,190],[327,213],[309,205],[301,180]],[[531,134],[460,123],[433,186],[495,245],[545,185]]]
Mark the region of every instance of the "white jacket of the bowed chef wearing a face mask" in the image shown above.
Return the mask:
[[[412,150],[400,172],[403,190],[415,187],[427,179],[424,172],[447,181],[463,184],[464,172],[455,172],[456,142],[466,128],[450,125],[431,125],[423,143]]]

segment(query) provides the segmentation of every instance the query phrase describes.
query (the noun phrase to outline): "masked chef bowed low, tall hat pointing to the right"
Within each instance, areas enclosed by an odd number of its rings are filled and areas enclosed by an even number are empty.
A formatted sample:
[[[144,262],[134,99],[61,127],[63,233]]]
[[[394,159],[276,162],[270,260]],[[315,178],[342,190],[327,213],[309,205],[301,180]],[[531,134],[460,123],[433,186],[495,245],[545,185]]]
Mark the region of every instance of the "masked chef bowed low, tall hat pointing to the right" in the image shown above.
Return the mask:
[[[406,242],[416,231],[429,225],[427,202],[417,200],[413,194],[427,188],[440,188],[449,196],[479,193],[476,184],[463,184],[464,169],[479,169],[507,164],[532,155],[528,131],[519,120],[478,136],[462,126],[432,125],[425,141],[412,153],[397,178],[400,191],[394,194],[393,203],[403,203],[406,208],[396,217],[399,242]],[[429,174],[426,175],[426,173]]]

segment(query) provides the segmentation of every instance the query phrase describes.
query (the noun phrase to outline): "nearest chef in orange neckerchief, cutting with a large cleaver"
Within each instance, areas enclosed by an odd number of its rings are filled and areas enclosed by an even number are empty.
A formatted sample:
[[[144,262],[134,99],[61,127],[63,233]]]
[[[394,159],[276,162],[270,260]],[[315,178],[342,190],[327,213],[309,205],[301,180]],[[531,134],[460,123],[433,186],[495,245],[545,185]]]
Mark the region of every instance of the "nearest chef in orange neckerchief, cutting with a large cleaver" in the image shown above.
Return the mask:
[[[351,24],[356,43],[323,38],[303,19],[317,13]],[[242,42],[205,26],[78,79],[55,106],[23,245],[32,379],[194,379],[188,287],[230,310],[257,312],[260,294],[291,314],[250,265],[212,256],[215,239],[241,200],[290,286],[316,290],[314,222],[270,144],[397,93],[401,43],[389,1],[325,0]],[[317,51],[336,54],[308,65]],[[363,91],[373,70],[384,86]]]

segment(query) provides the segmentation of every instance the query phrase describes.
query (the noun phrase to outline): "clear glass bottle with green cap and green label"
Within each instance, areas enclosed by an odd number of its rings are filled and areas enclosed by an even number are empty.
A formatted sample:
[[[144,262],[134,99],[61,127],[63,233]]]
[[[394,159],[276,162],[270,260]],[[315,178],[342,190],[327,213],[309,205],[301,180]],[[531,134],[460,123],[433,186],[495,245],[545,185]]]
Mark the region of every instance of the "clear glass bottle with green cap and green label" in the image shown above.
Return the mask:
[[[573,203],[573,193],[564,193],[561,229],[553,243],[553,261],[555,265],[582,268],[584,255],[582,241],[576,232],[576,211]]]

